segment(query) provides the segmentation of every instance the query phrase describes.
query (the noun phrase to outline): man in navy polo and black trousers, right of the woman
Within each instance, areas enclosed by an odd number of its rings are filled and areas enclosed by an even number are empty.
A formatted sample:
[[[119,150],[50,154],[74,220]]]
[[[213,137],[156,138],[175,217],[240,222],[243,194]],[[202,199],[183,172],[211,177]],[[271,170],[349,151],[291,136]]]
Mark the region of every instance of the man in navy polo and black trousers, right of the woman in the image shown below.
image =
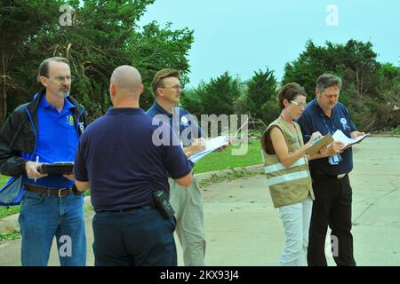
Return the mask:
[[[341,80],[324,74],[316,81],[316,99],[308,103],[298,123],[307,142],[310,135],[320,131],[323,135],[341,130],[348,138],[364,135],[356,130],[348,110],[339,99]],[[316,200],[313,203],[308,241],[308,265],[326,266],[324,254],[328,225],[332,229],[333,259],[337,265],[356,265],[351,234],[352,189],[348,173],[353,170],[351,147],[335,141],[328,151],[309,162]],[[335,248],[336,247],[336,248]]]

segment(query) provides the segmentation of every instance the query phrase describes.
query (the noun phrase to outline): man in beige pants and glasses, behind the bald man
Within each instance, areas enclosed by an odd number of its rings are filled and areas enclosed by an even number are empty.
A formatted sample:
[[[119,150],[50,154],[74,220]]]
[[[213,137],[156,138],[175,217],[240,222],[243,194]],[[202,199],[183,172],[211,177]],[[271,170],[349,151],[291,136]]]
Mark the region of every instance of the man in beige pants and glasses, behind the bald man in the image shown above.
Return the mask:
[[[170,124],[174,133],[179,136],[185,154],[190,156],[202,151],[204,133],[195,116],[176,106],[182,91],[180,72],[173,69],[158,71],[153,78],[152,87],[156,100],[147,114]],[[177,219],[176,233],[183,250],[183,262],[185,266],[204,266],[203,199],[196,176],[193,183],[187,187],[178,185],[172,178],[169,179],[169,183],[171,204]]]

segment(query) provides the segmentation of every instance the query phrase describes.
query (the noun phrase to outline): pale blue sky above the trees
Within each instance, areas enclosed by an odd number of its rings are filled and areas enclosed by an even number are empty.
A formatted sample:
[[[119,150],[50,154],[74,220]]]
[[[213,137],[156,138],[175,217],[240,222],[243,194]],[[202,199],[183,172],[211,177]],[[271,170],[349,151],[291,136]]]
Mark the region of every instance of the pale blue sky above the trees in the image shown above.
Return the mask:
[[[400,62],[398,0],[156,0],[140,25],[151,20],[195,30],[191,87],[225,71],[247,80],[266,67],[280,80],[284,64],[305,50],[308,39],[317,45],[370,41],[380,62]]]

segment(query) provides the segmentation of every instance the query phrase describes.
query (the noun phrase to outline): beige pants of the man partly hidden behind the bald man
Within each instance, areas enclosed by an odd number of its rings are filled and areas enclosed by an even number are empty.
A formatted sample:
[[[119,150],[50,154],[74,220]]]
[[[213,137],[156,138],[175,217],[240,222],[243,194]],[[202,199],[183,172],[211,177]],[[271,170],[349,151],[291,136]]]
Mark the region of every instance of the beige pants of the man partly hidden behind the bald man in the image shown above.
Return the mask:
[[[185,266],[204,266],[205,235],[203,217],[203,199],[196,176],[188,187],[178,185],[172,178],[170,184],[170,202],[175,210],[175,232],[183,250]]]

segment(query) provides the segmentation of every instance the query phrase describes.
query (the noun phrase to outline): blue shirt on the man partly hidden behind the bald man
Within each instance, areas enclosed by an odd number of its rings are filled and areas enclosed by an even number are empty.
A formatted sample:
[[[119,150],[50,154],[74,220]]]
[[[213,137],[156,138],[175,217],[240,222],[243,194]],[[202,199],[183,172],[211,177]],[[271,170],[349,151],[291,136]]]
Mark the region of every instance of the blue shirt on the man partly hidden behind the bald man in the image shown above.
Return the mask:
[[[179,130],[180,142],[184,147],[190,146],[196,138],[204,137],[202,128],[196,122],[196,117],[182,107],[173,107],[173,114],[170,114],[155,101],[146,114],[169,122],[176,135]]]

